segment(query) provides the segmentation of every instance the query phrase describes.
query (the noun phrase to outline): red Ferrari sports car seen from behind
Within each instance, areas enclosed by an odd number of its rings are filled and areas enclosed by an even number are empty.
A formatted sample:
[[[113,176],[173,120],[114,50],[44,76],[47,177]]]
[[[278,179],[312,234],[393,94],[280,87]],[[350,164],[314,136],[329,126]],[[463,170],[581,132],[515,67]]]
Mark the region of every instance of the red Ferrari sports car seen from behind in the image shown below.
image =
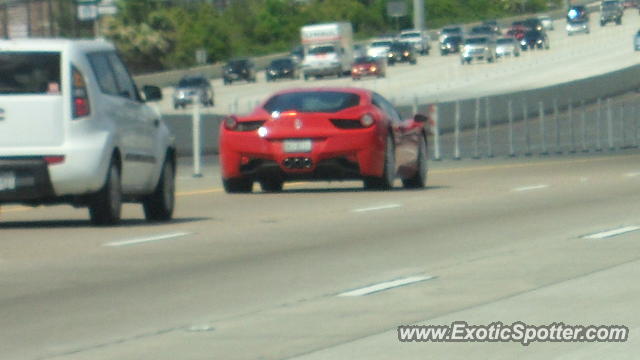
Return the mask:
[[[278,92],[253,113],[224,119],[220,162],[229,193],[282,190],[290,180],[361,179],[386,190],[427,179],[427,117],[403,120],[381,95],[358,88]]]

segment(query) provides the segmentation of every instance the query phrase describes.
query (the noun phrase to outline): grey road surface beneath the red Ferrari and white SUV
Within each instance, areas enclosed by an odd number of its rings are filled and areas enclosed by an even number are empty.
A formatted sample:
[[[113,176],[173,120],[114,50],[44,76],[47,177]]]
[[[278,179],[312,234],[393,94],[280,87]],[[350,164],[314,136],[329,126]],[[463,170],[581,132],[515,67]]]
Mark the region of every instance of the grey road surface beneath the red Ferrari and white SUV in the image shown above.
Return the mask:
[[[227,195],[180,166],[178,209],[93,228],[4,206],[1,359],[633,358],[640,154],[431,162],[428,188]],[[399,184],[396,184],[399,185]],[[633,226],[632,228],[629,228]],[[365,296],[372,284],[424,281]],[[396,327],[626,325],[626,343],[400,344]]]

